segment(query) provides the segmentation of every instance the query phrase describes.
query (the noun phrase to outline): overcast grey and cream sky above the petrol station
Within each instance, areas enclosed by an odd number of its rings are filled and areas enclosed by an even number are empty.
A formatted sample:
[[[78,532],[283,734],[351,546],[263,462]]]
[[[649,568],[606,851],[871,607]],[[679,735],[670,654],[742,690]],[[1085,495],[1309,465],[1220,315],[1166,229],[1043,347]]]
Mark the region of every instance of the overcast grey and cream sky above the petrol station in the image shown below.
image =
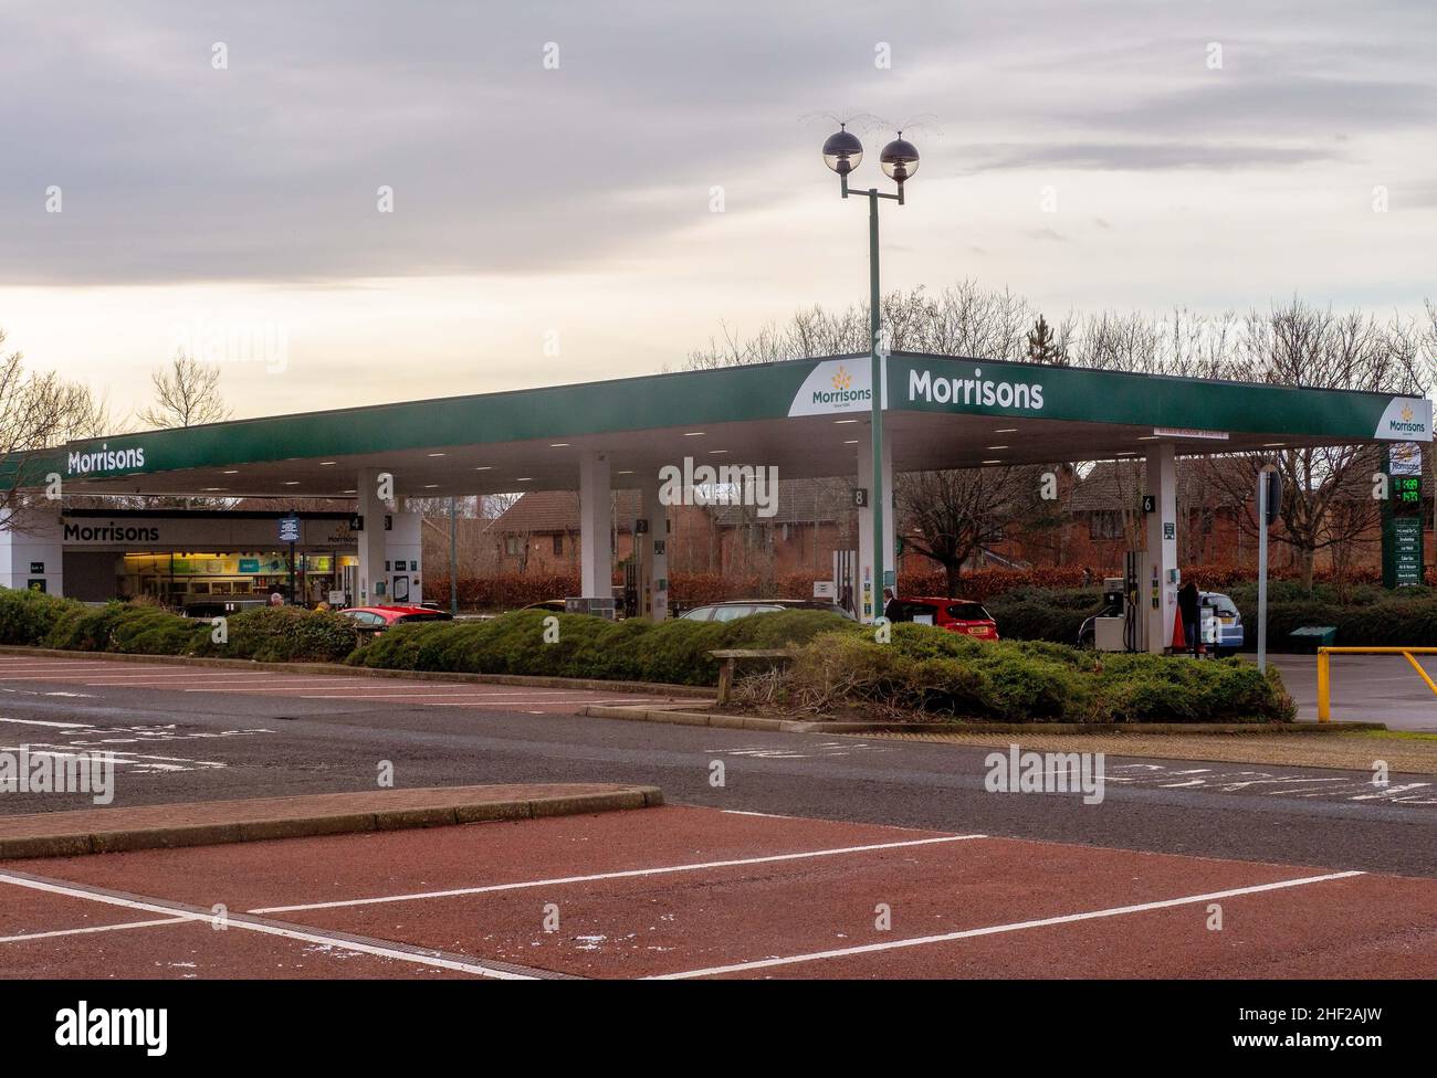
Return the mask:
[[[1437,297],[1433,0],[0,0],[0,42],[6,347],[119,413],[214,329],[285,345],[227,349],[244,416],[647,373],[862,299],[831,116],[884,121],[865,185],[890,128],[923,154],[885,287]]]

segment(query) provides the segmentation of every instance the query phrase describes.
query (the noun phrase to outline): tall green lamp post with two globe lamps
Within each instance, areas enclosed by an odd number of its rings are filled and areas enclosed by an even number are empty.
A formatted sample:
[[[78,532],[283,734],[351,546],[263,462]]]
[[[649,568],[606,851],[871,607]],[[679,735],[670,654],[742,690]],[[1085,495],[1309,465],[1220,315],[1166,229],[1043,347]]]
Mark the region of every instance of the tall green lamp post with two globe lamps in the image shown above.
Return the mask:
[[[864,159],[864,144],[858,141],[846,123],[828,136],[823,142],[823,164],[838,172],[844,198],[848,198],[848,177]],[[869,399],[871,422],[868,428],[872,439],[874,455],[874,617],[882,613],[882,590],[887,586],[884,566],[888,563],[888,551],[884,543],[884,370],[882,370],[882,317],[879,311],[878,294],[878,200],[891,198],[904,204],[902,185],[918,171],[918,151],[911,142],[898,138],[884,146],[878,155],[878,164],[884,174],[898,184],[898,194],[891,195],[877,187],[868,188],[868,330],[869,330]],[[894,589],[898,587],[898,574],[894,573]]]

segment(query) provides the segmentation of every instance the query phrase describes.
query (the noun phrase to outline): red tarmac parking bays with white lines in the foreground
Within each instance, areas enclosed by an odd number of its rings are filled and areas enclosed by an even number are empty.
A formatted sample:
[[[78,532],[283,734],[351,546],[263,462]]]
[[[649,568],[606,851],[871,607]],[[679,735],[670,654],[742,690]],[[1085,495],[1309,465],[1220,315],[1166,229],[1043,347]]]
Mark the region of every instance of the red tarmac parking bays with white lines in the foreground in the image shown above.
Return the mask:
[[[49,883],[36,890],[24,874]],[[1270,887],[1283,881],[1300,883]],[[434,894],[456,890],[466,893]],[[230,914],[223,932],[211,927],[216,903]],[[1147,903],[1164,906],[1124,909]],[[1209,927],[1213,903],[1221,930]],[[891,910],[887,930],[875,927],[879,904]],[[559,927],[545,932],[555,909]],[[1048,919],[1062,920],[1033,923]],[[68,934],[14,939],[47,932]],[[954,933],[970,934],[933,939]],[[1433,978],[1437,881],[683,807],[0,866],[0,976],[514,967],[585,978]]]

